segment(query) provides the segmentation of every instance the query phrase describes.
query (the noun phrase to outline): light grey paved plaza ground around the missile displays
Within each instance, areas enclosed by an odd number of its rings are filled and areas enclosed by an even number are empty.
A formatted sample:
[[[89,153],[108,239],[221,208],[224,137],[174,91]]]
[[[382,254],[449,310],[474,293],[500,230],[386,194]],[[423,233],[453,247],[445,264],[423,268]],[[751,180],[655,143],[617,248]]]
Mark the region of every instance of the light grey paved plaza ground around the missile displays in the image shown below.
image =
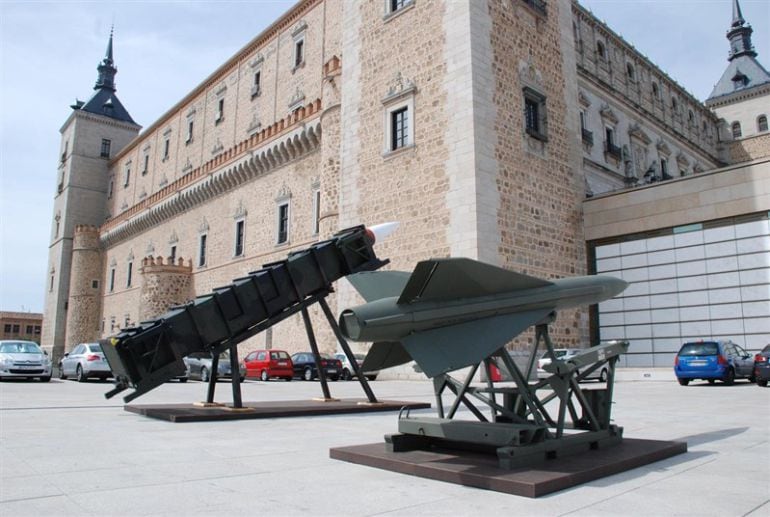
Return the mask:
[[[395,432],[395,413],[174,424],[105,400],[109,383],[3,382],[0,516],[770,515],[770,388],[681,387],[661,373],[618,379],[613,414],[625,436],[685,440],[689,451],[539,499],[329,458],[330,447]],[[427,380],[372,385],[382,399],[433,402]],[[362,397],[355,382],[330,387]],[[229,385],[217,395],[229,402]],[[316,382],[243,384],[246,401],[319,395]],[[204,397],[191,381],[134,402]]]

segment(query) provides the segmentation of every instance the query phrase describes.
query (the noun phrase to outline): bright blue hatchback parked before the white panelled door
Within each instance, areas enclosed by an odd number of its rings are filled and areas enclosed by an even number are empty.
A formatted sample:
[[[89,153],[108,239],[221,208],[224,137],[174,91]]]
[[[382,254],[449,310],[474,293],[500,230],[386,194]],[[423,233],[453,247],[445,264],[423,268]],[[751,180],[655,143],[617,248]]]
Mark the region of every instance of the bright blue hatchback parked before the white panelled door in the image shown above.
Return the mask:
[[[730,340],[685,343],[674,360],[679,384],[687,386],[695,379],[713,384],[721,380],[732,384],[737,378],[752,380],[754,360],[746,350]]]

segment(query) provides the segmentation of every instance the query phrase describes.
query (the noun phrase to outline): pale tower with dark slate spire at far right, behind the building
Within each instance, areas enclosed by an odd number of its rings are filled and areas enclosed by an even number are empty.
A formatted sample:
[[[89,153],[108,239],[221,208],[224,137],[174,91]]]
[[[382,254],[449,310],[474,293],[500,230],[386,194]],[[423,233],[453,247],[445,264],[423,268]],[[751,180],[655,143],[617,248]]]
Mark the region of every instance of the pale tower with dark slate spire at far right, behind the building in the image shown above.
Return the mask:
[[[732,7],[727,68],[706,99],[706,106],[724,119],[725,138],[738,140],[767,131],[770,73],[757,60],[751,43],[754,30],[743,17],[739,1],[733,0]]]

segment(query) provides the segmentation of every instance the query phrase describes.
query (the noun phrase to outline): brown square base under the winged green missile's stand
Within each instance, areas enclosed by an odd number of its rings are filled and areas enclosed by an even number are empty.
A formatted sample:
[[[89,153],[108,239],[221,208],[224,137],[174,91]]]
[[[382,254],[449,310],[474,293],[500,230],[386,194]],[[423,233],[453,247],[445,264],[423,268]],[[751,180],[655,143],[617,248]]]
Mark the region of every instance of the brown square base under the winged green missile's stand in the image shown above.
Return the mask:
[[[333,459],[525,497],[564,490],[687,452],[685,442],[624,438],[619,445],[504,470],[495,455],[457,450],[388,452],[385,442],[329,450]]]

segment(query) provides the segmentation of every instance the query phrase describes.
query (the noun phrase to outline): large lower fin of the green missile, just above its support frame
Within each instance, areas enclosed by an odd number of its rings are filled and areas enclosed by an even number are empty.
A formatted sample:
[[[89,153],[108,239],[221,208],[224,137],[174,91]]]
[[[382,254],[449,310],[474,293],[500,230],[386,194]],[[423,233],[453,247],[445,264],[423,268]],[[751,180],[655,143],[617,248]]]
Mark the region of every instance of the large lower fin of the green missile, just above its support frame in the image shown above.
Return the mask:
[[[403,344],[425,375],[435,377],[480,363],[551,311],[505,314],[417,332],[405,337]]]

